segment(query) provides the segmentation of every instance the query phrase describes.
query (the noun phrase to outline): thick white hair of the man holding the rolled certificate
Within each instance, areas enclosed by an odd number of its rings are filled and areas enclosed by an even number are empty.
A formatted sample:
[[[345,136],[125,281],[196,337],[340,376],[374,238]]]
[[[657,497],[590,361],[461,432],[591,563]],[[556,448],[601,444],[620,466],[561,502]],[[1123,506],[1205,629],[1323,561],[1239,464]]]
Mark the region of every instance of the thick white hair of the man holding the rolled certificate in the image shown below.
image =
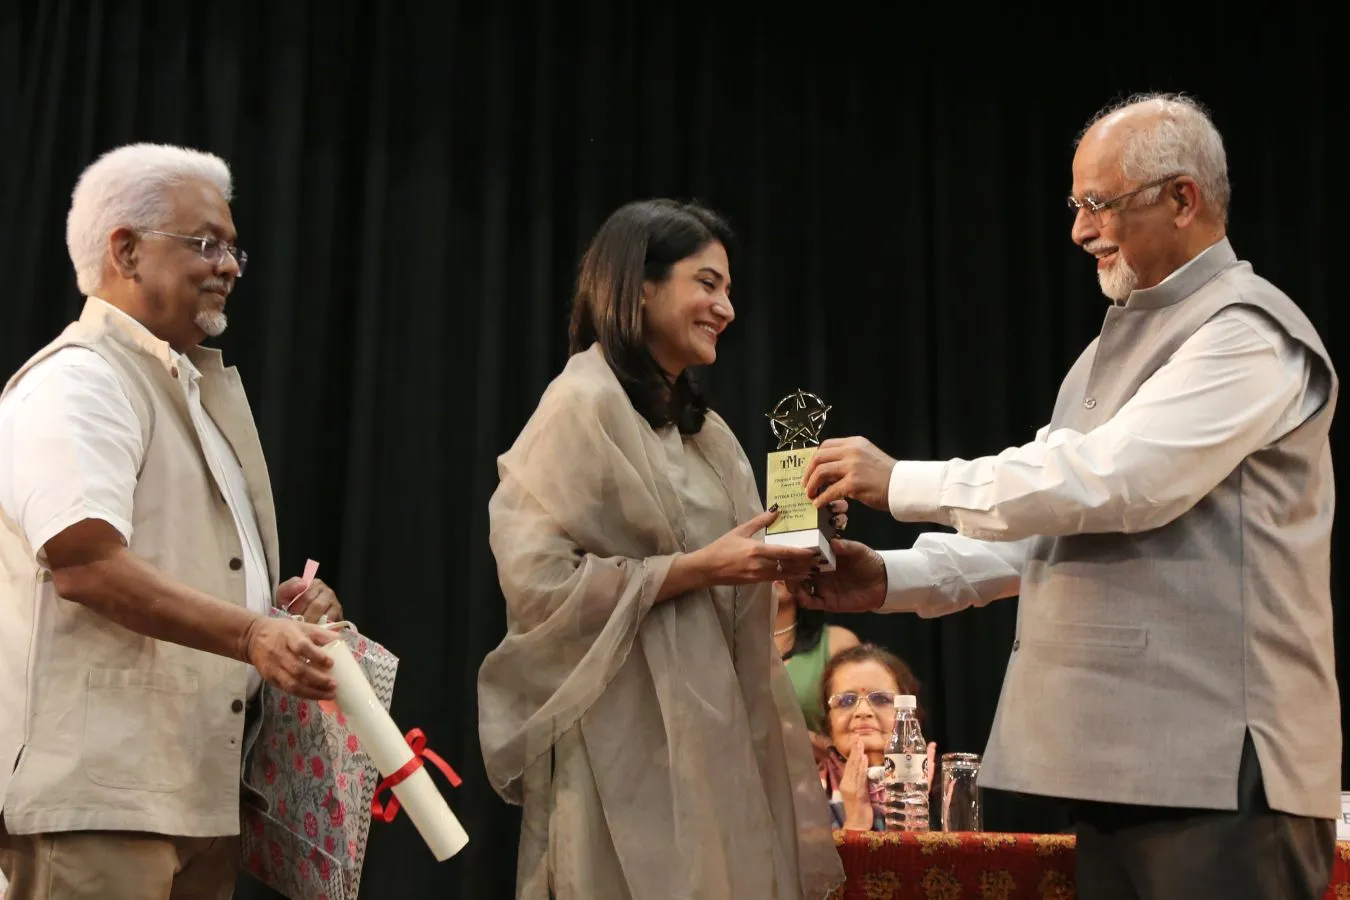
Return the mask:
[[[159,228],[173,215],[166,190],[205,181],[230,202],[230,166],[213,154],[170,144],[127,144],[109,150],[81,173],[66,216],[66,250],[80,293],[103,286],[108,235],[117,228]]]

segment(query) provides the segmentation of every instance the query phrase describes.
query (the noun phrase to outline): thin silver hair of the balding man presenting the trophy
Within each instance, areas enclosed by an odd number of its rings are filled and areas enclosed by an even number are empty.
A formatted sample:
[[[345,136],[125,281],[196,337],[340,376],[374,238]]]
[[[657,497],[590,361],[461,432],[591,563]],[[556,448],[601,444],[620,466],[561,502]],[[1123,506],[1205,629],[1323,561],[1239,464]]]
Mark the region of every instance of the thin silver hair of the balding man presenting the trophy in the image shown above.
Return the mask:
[[[1219,221],[1227,223],[1233,193],[1228,186],[1228,158],[1223,150],[1223,138],[1204,105],[1184,93],[1137,93],[1100,109],[1079,132],[1077,140],[1081,142],[1088,130],[1102,119],[1127,108],[1148,108],[1158,115],[1148,125],[1126,135],[1120,154],[1125,177],[1146,184],[1168,175],[1191,175]],[[1141,194],[1141,200],[1152,202],[1161,190],[1161,186],[1149,189]]]

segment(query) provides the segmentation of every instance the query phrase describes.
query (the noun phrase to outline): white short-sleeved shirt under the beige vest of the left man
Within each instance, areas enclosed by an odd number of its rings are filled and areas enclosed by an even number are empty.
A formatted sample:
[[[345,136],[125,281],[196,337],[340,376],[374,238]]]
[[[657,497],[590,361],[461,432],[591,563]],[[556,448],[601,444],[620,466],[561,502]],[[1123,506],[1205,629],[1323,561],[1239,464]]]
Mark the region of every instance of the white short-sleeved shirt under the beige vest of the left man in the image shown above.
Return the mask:
[[[105,305],[148,335],[135,318]],[[201,405],[197,367],[170,354],[186,375],[180,385],[192,424],[239,530],[248,609],[266,615],[271,584],[243,467]],[[85,347],[65,347],[43,359],[0,399],[0,509],[18,522],[39,560],[49,540],[86,518],[108,522],[130,544],[143,455],[140,424],[116,371]],[[248,667],[248,695],[261,685]]]

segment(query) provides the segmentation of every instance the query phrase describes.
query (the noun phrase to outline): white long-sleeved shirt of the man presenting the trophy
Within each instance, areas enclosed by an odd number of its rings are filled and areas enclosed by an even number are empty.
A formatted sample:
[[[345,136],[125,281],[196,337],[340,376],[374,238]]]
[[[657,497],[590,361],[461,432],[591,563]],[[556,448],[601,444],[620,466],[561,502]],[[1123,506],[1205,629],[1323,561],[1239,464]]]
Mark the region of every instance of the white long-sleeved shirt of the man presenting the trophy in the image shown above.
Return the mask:
[[[960,534],[883,551],[882,611],[934,617],[1013,596],[1035,536],[1165,525],[1323,405],[1330,385],[1312,363],[1264,313],[1230,306],[1085,434],[1045,426],[996,456],[898,461],[891,515]]]

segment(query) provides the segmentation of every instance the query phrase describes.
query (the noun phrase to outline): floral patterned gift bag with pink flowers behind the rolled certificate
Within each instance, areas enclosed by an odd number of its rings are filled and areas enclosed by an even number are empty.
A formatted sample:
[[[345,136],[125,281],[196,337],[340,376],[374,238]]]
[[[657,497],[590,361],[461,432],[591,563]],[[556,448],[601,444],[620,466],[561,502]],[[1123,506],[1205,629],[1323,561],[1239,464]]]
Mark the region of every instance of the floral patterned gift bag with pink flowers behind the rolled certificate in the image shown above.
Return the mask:
[[[398,657],[350,622],[328,627],[347,642],[387,711]],[[242,868],[290,900],[356,900],[379,772],[336,707],[325,711],[271,685],[263,685],[261,703],[244,783],[267,810],[243,801]]]

